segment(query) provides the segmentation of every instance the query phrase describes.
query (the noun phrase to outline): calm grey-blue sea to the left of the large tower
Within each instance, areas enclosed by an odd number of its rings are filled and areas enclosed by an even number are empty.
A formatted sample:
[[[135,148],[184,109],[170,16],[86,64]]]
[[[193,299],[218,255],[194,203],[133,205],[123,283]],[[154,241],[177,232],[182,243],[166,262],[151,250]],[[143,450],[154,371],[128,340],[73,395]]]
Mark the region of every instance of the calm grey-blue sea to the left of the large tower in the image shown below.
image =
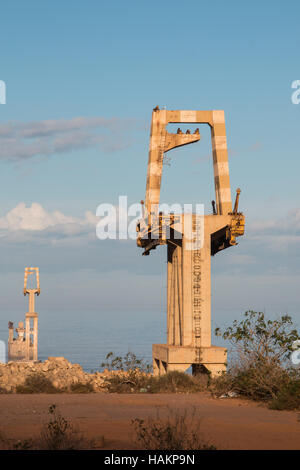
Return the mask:
[[[7,321],[6,321],[7,318]],[[15,312],[1,315],[0,341],[7,343],[9,320],[23,318]],[[152,344],[166,342],[166,313],[160,311],[41,311],[38,357],[63,356],[86,372],[100,370],[106,355],[134,353],[152,364]]]

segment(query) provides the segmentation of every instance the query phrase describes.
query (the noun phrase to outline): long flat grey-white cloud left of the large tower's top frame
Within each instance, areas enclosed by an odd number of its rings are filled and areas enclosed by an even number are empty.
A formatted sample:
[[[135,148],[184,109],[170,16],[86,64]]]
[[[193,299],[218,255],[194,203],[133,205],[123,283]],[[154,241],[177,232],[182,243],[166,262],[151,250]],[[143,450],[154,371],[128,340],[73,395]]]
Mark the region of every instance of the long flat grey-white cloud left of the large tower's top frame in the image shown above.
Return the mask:
[[[113,152],[129,145],[132,119],[76,117],[0,124],[0,159],[23,160],[99,146]]]

